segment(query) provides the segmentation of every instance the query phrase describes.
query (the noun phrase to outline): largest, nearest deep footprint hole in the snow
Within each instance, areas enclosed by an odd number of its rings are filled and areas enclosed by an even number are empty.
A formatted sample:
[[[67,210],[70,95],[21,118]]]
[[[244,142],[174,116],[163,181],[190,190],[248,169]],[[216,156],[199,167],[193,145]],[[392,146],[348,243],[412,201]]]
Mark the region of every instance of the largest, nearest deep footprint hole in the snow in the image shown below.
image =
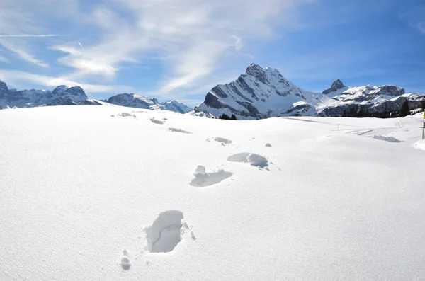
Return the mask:
[[[169,210],[159,214],[152,226],[147,227],[146,239],[149,252],[168,253],[181,241],[181,220],[183,213]]]

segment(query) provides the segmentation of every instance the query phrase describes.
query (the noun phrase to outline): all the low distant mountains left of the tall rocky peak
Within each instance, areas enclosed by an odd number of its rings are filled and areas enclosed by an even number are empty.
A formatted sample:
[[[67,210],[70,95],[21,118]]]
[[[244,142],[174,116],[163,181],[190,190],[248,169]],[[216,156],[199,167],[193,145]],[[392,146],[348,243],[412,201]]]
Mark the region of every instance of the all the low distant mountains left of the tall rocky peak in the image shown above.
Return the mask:
[[[170,110],[176,113],[188,113],[193,109],[177,101],[160,103],[156,98],[146,98],[135,93],[120,93],[107,101],[88,98],[80,86],[57,86],[53,91],[9,89],[6,83],[0,81],[0,109],[2,108],[33,108],[50,105],[103,105],[111,103],[131,108],[152,110]]]

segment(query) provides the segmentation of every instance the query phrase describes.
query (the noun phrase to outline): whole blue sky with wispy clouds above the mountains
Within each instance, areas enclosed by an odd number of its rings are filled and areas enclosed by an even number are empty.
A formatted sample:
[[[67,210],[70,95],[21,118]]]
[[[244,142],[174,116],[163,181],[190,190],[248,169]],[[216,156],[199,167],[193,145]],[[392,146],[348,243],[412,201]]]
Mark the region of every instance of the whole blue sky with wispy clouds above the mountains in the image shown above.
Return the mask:
[[[251,63],[425,93],[423,0],[0,0],[0,80],[197,105]]]

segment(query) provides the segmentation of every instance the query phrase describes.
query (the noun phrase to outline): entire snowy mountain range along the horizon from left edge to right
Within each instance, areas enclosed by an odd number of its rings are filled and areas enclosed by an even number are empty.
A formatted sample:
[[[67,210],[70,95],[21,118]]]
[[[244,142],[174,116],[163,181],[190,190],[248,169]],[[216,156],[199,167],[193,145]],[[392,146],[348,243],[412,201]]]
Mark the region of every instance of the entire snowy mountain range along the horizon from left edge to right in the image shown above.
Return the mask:
[[[229,84],[217,85],[193,110],[177,101],[160,103],[135,93],[120,93],[108,100],[88,98],[80,86],[57,86],[53,91],[11,90],[0,81],[0,109],[49,105],[103,105],[171,110],[201,117],[236,115],[239,120],[280,116],[395,117],[405,101],[419,108],[424,94],[405,93],[392,85],[348,87],[337,79],[322,93],[305,91],[283,77],[277,69],[251,64],[246,73]]]

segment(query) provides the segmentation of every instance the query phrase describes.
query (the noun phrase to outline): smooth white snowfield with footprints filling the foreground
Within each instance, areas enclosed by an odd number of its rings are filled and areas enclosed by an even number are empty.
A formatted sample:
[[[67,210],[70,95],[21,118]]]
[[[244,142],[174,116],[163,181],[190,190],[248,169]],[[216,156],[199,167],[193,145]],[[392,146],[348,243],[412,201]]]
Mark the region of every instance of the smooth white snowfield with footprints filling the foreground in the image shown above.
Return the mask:
[[[0,280],[421,280],[421,116],[0,110]]]

